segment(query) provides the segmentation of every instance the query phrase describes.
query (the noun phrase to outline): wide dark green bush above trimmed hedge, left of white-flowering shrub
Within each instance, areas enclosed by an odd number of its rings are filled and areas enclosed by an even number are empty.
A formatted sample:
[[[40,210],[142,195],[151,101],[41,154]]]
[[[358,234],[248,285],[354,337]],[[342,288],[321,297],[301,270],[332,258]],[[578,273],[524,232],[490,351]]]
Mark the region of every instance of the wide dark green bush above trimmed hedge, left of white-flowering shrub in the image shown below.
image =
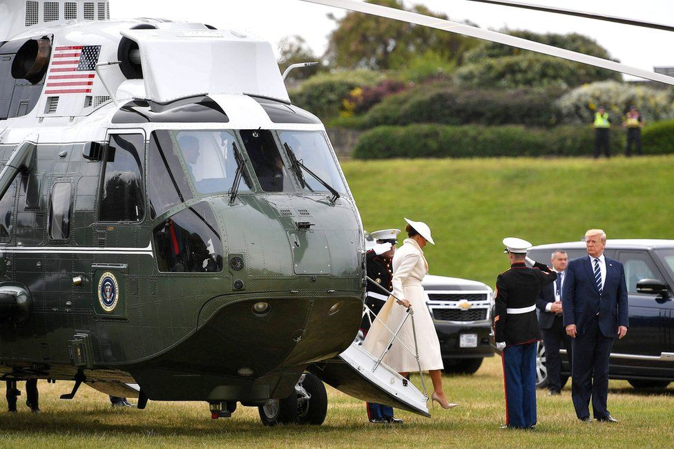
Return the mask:
[[[350,124],[360,128],[413,123],[550,126],[557,122],[559,95],[561,91],[553,88],[465,90],[448,83],[421,85],[386,97]]]

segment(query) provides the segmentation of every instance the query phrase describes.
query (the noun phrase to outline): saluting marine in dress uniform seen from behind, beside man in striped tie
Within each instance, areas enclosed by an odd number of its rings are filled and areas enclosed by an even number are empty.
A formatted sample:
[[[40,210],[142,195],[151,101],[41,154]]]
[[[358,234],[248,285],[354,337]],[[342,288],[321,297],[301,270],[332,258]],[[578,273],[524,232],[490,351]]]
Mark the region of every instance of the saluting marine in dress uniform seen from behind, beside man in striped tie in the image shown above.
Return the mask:
[[[536,348],[541,331],[536,299],[543,285],[555,282],[557,273],[526,258],[531,244],[521,238],[504,238],[510,269],[497,278],[494,338],[503,351],[505,426],[528,429],[536,425]]]

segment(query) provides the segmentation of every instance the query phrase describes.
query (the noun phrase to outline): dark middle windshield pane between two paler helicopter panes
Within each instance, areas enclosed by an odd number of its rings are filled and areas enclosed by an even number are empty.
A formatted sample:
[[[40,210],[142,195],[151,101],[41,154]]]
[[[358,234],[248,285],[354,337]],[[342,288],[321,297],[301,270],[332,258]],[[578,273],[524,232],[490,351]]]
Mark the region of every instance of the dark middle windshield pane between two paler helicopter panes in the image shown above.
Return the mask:
[[[265,192],[291,192],[293,185],[270,131],[241,131],[241,138]]]

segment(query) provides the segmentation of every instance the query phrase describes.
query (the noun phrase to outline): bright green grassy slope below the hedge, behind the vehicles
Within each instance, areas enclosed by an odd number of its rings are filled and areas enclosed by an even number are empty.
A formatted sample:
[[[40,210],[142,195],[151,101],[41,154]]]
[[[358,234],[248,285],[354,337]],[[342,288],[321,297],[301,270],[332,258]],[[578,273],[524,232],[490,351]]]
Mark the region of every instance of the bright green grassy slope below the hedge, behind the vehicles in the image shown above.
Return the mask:
[[[471,159],[342,164],[368,231],[425,221],[431,274],[493,287],[508,268],[501,240],[534,245],[608,238],[674,238],[674,157],[611,160]]]

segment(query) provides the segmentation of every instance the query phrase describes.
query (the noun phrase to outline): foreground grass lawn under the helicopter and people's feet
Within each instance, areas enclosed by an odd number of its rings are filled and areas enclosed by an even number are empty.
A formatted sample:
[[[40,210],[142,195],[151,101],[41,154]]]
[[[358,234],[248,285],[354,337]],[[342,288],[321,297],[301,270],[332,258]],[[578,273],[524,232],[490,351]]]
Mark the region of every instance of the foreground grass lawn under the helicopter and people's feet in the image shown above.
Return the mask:
[[[418,379],[415,379],[418,384]],[[617,424],[580,423],[567,386],[560,397],[538,396],[539,424],[533,431],[500,430],[503,422],[501,359],[487,359],[474,376],[446,376],[452,410],[431,410],[432,418],[398,412],[403,426],[367,423],[365,405],[328,388],[325,423],[265,428],[254,408],[238,408],[231,419],[210,419],[206,403],[148,403],[146,410],[110,408],[108,397],[83,386],[73,401],[59,395],[71,382],[39,382],[41,414],[19,404],[18,414],[0,413],[3,448],[164,447],[545,447],[584,446],[664,448],[673,444],[674,385],[636,392],[625,381],[611,381],[609,410]],[[23,388],[23,383],[19,383]],[[23,399],[20,397],[19,399]]]

